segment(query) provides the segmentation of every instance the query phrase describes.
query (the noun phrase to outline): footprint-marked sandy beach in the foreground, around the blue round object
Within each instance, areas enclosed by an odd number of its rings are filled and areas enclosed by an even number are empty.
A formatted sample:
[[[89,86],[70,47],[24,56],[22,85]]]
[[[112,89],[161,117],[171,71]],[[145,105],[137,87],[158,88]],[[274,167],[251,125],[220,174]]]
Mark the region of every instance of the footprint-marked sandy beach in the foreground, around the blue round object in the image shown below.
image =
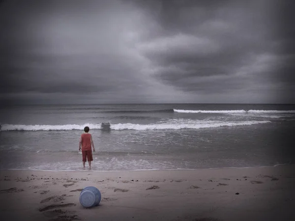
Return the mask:
[[[295,165],[159,171],[0,171],[0,216],[21,221],[294,221]],[[98,188],[84,208],[79,194]]]

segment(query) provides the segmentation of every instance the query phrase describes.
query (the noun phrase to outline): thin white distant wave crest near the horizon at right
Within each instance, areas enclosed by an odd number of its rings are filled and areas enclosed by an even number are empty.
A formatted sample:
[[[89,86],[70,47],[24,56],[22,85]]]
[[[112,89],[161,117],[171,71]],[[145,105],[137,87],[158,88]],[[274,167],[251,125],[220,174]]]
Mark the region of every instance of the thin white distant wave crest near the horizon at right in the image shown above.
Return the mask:
[[[290,111],[278,111],[278,110],[221,110],[221,111],[205,111],[205,110],[177,110],[173,109],[174,112],[179,113],[295,113],[295,110]]]

